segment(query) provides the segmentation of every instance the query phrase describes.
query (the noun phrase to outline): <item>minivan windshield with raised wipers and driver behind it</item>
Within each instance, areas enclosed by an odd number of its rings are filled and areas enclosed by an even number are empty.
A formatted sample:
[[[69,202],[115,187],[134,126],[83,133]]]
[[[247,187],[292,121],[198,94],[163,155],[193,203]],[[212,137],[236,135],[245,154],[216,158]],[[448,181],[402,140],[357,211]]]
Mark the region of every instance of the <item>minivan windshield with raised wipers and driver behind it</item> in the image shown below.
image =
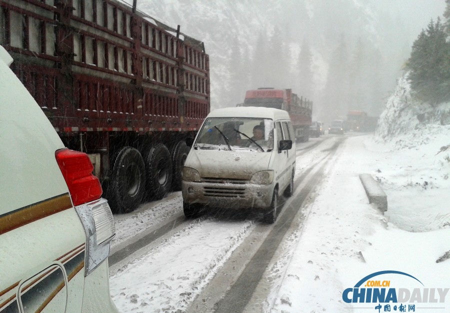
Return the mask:
[[[273,149],[273,120],[247,117],[208,117],[194,148],[267,152]]]

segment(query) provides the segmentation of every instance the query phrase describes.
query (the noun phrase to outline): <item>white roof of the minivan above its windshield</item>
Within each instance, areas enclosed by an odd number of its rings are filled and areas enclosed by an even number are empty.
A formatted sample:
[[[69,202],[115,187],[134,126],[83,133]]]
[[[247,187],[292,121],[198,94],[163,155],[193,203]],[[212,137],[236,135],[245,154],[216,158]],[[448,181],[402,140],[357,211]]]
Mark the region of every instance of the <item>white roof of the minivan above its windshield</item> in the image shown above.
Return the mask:
[[[207,117],[258,117],[271,119],[289,119],[289,114],[277,108],[261,106],[237,106],[217,108]]]

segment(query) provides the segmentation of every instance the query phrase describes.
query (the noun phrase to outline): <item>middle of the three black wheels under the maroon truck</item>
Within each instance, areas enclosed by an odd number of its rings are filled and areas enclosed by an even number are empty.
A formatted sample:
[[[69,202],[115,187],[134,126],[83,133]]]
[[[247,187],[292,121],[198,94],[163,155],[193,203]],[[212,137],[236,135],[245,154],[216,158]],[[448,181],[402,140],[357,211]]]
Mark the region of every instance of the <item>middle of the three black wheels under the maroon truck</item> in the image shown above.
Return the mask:
[[[145,156],[147,176],[147,197],[161,199],[172,183],[172,161],[167,147],[158,143],[152,146]]]

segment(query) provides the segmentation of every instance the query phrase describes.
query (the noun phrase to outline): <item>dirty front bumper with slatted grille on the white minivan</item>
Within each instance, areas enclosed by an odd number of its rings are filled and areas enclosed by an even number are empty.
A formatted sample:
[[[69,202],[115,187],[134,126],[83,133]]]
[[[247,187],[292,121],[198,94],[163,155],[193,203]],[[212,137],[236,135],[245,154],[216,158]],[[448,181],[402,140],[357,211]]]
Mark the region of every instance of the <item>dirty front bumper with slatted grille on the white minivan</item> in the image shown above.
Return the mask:
[[[248,181],[192,182],[181,181],[185,203],[201,203],[223,208],[266,208],[272,200],[273,184],[254,184]]]

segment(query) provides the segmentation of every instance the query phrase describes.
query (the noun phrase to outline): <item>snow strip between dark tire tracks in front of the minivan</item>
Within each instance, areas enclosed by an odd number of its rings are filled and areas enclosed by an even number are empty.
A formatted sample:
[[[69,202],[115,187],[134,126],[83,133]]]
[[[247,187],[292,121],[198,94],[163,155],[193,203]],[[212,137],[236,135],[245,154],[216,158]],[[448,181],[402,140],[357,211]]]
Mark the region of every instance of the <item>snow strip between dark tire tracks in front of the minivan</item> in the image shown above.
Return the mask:
[[[192,221],[111,276],[112,300],[120,312],[185,308],[253,228],[249,221]]]

